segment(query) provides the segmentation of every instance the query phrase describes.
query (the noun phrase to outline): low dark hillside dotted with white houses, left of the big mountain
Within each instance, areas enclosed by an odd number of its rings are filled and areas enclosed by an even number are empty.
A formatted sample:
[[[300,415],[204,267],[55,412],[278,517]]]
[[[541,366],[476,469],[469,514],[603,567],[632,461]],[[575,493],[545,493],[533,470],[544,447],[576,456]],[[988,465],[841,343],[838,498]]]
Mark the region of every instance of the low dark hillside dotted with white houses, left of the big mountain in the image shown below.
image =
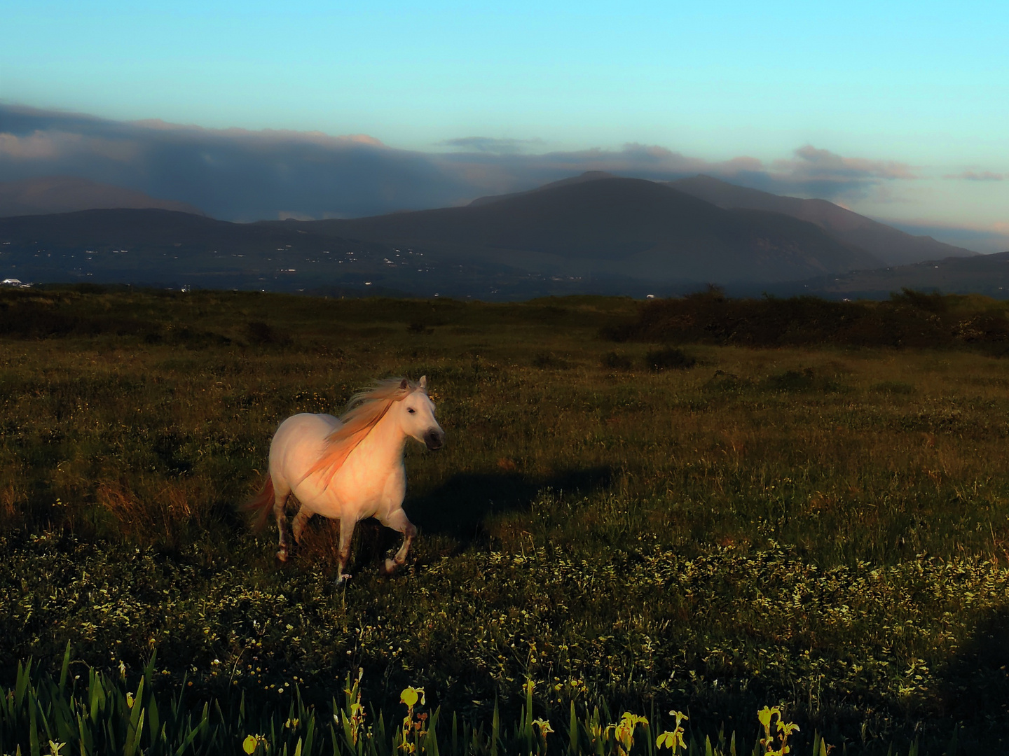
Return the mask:
[[[550,293],[543,277],[493,269],[292,221],[229,223],[164,210],[89,210],[0,218],[0,280],[133,283],[204,288],[393,291],[524,298]],[[521,285],[517,285],[521,284]]]

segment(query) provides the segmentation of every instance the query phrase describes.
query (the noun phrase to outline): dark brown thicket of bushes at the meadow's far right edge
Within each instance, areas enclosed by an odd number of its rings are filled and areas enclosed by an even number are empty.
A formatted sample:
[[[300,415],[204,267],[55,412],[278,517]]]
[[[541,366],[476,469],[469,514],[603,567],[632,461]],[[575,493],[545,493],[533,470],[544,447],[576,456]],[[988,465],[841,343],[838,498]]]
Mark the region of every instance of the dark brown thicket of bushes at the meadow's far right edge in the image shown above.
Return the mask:
[[[609,328],[614,341],[785,347],[957,348],[1009,351],[1006,305],[975,295],[903,289],[888,301],[828,301],[814,296],[733,299],[717,287],[642,305],[638,318]]]

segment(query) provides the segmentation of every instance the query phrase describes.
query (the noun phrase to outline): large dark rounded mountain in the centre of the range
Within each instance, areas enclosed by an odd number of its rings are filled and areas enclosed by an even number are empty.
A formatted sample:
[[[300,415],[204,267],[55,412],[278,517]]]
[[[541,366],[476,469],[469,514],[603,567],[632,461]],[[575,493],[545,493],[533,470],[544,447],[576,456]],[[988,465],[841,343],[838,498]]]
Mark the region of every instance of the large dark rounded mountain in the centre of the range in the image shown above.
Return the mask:
[[[562,181],[463,208],[299,228],[548,275],[656,283],[796,280],[882,264],[815,224],[724,210],[637,178]]]

